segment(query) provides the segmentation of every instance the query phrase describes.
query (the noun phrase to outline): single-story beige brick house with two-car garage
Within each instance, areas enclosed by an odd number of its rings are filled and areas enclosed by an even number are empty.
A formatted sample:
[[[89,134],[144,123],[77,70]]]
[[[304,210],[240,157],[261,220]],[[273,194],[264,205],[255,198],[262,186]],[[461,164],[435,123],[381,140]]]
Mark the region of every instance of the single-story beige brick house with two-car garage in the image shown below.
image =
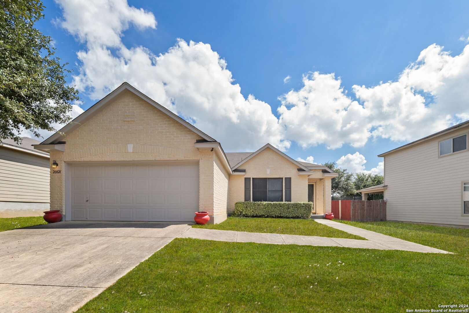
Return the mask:
[[[219,223],[238,201],[310,200],[322,214],[330,210],[337,176],[269,144],[225,153],[128,83],[35,148],[57,163],[51,209],[65,220],[193,221],[194,212],[208,211]]]

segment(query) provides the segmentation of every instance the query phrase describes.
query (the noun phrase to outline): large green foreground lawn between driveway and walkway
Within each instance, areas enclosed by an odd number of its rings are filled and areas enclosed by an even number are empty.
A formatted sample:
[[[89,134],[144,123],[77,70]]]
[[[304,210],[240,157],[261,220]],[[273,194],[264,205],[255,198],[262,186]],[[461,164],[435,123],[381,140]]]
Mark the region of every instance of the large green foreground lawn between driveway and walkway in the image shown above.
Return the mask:
[[[438,248],[459,254],[175,239],[77,312],[388,313],[468,304],[467,237],[440,240],[457,241]]]

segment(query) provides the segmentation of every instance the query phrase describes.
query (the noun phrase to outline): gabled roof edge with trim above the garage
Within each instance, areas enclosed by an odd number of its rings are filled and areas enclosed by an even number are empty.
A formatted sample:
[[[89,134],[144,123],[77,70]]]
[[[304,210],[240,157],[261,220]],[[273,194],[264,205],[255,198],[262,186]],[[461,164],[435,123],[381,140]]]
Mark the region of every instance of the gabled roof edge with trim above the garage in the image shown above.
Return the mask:
[[[157,108],[161,112],[165,113],[169,117],[173,118],[176,122],[181,123],[183,126],[187,127],[189,130],[192,130],[195,132],[197,135],[200,137],[204,138],[207,141],[216,141],[212,137],[208,136],[201,130],[197,129],[194,125],[190,124],[189,122],[185,121],[178,115],[174,114],[170,110],[168,110],[166,107],[163,107],[160,105],[158,102],[155,100],[151,99],[147,95],[145,95],[143,92],[138,91],[135,87],[130,85],[127,82],[122,83],[119,87],[114,89],[111,93],[109,93],[106,97],[103,99],[99,100],[94,104],[92,107],[90,107],[88,110],[84,111],[81,115],[78,115],[73,121],[69,122],[67,125],[62,127],[59,132],[53,134],[51,137],[45,139],[41,145],[49,145],[49,144],[57,144],[58,142],[63,140],[63,136],[60,133],[64,133],[66,135],[72,133],[74,130],[76,130],[78,127],[80,127],[83,123],[87,122],[91,117],[96,115],[98,112],[100,112],[102,109],[104,109],[111,101],[117,97],[121,92],[125,91],[130,91],[136,94],[138,97],[144,99],[148,103],[150,103],[153,107]]]

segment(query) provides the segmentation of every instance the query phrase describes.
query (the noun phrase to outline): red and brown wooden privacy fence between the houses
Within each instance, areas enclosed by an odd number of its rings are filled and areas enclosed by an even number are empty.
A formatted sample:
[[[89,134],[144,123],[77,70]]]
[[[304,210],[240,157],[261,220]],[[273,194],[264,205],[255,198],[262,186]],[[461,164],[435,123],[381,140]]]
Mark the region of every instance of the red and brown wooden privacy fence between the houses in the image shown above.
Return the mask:
[[[333,200],[334,218],[345,221],[386,221],[384,200]]]

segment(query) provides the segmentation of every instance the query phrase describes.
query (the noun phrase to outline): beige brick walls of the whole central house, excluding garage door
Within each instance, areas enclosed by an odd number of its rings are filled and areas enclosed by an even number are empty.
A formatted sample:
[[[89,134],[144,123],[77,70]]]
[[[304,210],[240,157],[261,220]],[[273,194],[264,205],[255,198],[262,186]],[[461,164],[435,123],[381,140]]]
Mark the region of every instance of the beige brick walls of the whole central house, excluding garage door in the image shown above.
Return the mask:
[[[65,151],[50,150],[50,160],[57,161],[60,170],[51,174],[51,209],[66,214],[65,208],[70,203],[70,164],[114,161],[197,161],[198,208],[208,211],[215,223],[226,219],[235,202],[244,201],[244,177],[291,177],[292,201],[307,201],[308,183],[314,182],[316,212],[321,214],[325,208],[330,209],[331,177],[324,177],[320,169],[313,169],[310,175],[298,175],[297,164],[274,148],[265,148],[242,164],[245,175],[232,175],[221,149],[196,144],[206,135],[189,129],[191,126],[184,126],[147,100],[124,90],[60,140],[54,139],[53,145],[65,142]]]

